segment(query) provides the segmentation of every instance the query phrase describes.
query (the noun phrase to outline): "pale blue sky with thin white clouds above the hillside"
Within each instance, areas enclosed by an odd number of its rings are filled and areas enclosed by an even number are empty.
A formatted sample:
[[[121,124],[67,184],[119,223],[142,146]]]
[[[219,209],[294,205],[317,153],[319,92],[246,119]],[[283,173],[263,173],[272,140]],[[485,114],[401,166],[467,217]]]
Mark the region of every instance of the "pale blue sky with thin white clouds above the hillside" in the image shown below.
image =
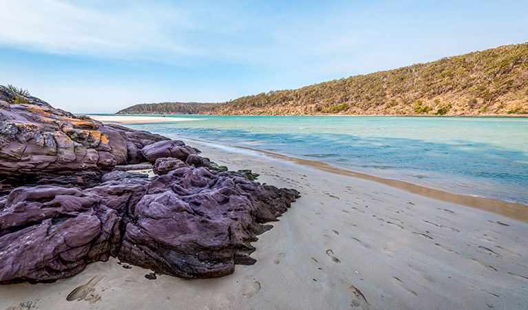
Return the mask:
[[[528,41],[525,0],[0,1],[0,84],[74,113],[223,102]]]

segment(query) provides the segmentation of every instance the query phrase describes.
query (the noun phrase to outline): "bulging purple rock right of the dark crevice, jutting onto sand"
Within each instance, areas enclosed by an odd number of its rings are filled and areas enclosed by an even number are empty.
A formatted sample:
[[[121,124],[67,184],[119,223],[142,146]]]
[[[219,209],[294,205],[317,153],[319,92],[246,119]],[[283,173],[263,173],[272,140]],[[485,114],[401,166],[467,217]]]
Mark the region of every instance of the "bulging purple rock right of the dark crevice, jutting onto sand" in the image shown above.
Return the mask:
[[[297,192],[218,176],[205,167],[160,176],[130,214],[118,257],[158,273],[209,278],[251,265],[249,242],[271,228]]]

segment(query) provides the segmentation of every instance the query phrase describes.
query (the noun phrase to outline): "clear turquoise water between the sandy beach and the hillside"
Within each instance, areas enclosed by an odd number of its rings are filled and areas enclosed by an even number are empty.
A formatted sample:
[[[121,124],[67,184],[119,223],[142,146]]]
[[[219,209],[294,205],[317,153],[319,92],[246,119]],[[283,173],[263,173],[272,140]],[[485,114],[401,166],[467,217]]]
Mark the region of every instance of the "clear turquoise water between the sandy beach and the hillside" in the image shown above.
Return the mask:
[[[127,126],[528,205],[528,118],[176,117],[204,119]]]

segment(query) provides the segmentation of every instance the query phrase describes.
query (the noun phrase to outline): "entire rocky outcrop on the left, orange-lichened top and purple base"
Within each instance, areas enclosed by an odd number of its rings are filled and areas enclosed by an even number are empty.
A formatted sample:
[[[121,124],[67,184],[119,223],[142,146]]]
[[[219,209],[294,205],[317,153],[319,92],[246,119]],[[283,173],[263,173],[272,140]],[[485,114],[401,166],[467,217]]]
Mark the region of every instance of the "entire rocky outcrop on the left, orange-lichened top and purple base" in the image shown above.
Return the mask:
[[[66,278],[110,256],[182,278],[224,276],[255,262],[251,242],[298,197],[182,141],[34,97],[10,104],[0,90],[0,174],[13,187],[0,196],[0,283]],[[142,159],[159,177],[124,171]],[[125,166],[109,172],[116,164]]]

